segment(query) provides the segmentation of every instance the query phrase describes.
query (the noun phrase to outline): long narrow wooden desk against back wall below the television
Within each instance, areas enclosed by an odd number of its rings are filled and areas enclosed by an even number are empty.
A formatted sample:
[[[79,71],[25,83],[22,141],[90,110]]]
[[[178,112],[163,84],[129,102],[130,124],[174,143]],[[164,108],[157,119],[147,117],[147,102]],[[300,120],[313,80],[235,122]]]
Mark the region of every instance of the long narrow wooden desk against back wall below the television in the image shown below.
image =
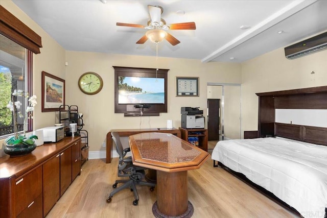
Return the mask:
[[[111,148],[112,148],[112,137],[111,132],[118,132],[120,137],[128,137],[130,135],[135,135],[138,133],[144,132],[162,132],[162,133],[171,133],[180,138],[180,131],[178,129],[167,129],[167,128],[154,128],[154,129],[118,129],[110,130],[107,133],[107,148],[106,148],[106,163],[111,163]]]

